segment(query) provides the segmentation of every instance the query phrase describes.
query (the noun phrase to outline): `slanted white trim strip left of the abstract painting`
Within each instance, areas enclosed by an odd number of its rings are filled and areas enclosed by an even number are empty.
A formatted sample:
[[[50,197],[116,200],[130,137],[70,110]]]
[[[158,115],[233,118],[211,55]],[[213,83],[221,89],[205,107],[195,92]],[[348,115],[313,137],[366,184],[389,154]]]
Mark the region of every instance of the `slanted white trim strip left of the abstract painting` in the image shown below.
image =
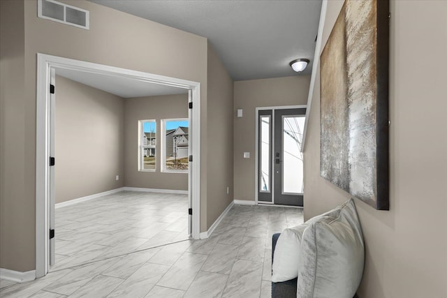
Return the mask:
[[[321,2],[320,24],[318,24],[318,34],[316,36],[316,45],[314,53],[314,61],[312,62],[312,75],[310,77],[309,95],[307,96],[307,109],[305,131],[302,133],[301,151],[304,152],[306,143],[307,124],[309,123],[310,109],[312,107],[312,97],[314,97],[314,87],[316,80],[316,73],[318,71],[318,64],[320,62],[321,38],[323,38],[323,28],[326,18],[326,9],[328,8],[328,0]]]

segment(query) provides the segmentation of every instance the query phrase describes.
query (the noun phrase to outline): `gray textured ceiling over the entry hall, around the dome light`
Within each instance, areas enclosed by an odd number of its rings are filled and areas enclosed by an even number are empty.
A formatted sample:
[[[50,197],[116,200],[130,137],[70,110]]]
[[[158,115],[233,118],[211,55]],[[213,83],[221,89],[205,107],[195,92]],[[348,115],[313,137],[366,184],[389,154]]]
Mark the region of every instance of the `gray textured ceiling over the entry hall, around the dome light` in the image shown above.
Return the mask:
[[[91,0],[208,38],[233,80],[297,75],[297,58],[312,71],[321,0]]]

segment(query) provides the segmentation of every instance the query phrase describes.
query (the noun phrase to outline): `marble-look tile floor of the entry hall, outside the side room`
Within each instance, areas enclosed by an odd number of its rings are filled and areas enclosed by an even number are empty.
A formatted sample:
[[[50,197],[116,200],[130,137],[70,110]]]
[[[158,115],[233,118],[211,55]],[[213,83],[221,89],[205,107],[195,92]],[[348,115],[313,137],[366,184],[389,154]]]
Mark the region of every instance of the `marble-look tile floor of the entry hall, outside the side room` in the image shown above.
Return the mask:
[[[272,234],[302,222],[302,209],[235,205],[208,239],[112,256],[28,283],[0,281],[0,296],[270,297]]]

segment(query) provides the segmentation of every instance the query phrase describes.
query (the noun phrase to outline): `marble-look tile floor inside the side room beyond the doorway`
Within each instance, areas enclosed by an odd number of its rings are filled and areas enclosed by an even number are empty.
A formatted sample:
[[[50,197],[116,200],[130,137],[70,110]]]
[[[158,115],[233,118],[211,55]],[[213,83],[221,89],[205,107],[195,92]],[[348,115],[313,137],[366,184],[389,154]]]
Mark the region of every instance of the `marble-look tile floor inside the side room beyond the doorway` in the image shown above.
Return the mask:
[[[50,271],[189,239],[188,195],[121,191],[56,209]]]

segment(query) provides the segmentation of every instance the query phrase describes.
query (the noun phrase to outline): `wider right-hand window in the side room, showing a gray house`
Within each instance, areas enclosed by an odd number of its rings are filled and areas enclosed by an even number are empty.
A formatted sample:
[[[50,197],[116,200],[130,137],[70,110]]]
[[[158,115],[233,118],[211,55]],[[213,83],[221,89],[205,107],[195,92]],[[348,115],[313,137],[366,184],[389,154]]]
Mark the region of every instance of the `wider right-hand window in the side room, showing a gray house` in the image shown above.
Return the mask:
[[[189,120],[162,119],[163,147],[161,169],[163,172],[188,172]]]

